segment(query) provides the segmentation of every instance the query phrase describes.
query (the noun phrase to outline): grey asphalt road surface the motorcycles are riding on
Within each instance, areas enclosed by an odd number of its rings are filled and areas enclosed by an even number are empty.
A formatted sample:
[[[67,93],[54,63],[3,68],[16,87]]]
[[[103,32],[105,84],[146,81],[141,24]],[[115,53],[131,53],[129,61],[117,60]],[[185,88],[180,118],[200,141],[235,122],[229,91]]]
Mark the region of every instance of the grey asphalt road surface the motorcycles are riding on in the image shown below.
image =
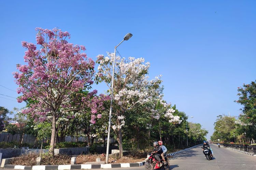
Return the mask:
[[[202,146],[195,147],[186,152],[174,155],[170,158],[170,169],[173,170],[253,170],[256,169],[256,157],[245,155],[239,152],[218,148],[210,145],[214,157],[207,160],[202,153]],[[116,168],[118,169],[118,168]],[[139,168],[122,168],[122,170],[142,170]],[[113,168],[112,170],[115,170]]]

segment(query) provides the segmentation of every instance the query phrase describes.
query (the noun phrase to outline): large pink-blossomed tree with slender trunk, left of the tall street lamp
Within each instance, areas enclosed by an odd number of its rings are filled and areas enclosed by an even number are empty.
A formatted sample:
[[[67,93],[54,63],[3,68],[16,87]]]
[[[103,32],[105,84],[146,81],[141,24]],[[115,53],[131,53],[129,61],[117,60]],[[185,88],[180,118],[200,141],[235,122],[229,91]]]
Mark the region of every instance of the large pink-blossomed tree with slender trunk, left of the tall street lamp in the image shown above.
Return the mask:
[[[50,153],[53,154],[56,121],[65,112],[75,110],[69,104],[69,96],[79,89],[89,88],[93,84],[94,61],[88,58],[84,46],[68,43],[68,32],[60,29],[42,29],[38,31],[37,45],[22,42],[27,49],[24,56],[25,65],[17,64],[18,72],[14,78],[18,94],[18,102],[34,100],[22,113],[37,115],[38,121],[46,118],[52,121]],[[63,109],[63,108],[69,109]]]

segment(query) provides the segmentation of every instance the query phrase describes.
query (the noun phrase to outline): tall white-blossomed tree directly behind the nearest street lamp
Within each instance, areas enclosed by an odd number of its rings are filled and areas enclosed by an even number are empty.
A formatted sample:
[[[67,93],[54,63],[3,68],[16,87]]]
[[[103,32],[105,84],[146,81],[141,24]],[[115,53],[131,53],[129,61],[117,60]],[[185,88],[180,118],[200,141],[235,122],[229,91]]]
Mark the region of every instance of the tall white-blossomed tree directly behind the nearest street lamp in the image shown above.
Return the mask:
[[[105,82],[109,89],[111,87],[114,54],[108,56],[97,56],[98,73],[96,79]],[[144,58],[116,57],[114,72],[114,109],[112,117],[112,128],[117,134],[119,143],[119,157],[123,156],[122,127],[125,126],[126,113],[150,102],[153,97],[160,93],[160,76],[148,80],[148,69],[150,63],[144,63]],[[110,92],[110,90],[108,90]]]

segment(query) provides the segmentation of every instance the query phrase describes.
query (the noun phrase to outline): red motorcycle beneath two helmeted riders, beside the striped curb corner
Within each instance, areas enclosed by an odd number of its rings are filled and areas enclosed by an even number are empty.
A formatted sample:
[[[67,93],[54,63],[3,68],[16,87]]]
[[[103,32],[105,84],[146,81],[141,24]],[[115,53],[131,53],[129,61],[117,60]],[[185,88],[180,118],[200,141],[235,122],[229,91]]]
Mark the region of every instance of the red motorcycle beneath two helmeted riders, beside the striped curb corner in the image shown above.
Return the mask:
[[[161,159],[161,163],[162,163],[162,166],[159,166],[159,162],[154,158],[153,154],[152,153],[149,153],[148,154],[148,158],[145,162],[145,169],[146,170],[154,170],[154,169],[166,169],[166,170],[169,170],[170,168],[170,164],[169,164],[169,161],[167,159],[167,157],[165,156],[165,160],[166,160],[166,163],[164,164],[163,162],[163,159]]]

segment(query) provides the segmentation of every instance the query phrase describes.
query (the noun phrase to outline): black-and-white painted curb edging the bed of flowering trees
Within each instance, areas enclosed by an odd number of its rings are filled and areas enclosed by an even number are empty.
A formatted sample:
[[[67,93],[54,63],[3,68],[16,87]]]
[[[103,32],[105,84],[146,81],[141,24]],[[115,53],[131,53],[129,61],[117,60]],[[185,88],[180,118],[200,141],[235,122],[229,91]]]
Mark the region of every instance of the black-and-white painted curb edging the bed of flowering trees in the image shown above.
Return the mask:
[[[200,144],[201,145],[201,144]],[[167,154],[167,156],[173,156],[189,149],[195,148],[196,145],[191,148],[183,149],[174,153]],[[121,164],[79,164],[79,165],[36,165],[36,166],[22,166],[22,165],[4,165],[4,168],[8,169],[24,169],[24,170],[71,170],[71,169],[108,169],[108,168],[129,168],[129,167],[141,167],[145,165],[145,161],[137,163],[121,163]]]

